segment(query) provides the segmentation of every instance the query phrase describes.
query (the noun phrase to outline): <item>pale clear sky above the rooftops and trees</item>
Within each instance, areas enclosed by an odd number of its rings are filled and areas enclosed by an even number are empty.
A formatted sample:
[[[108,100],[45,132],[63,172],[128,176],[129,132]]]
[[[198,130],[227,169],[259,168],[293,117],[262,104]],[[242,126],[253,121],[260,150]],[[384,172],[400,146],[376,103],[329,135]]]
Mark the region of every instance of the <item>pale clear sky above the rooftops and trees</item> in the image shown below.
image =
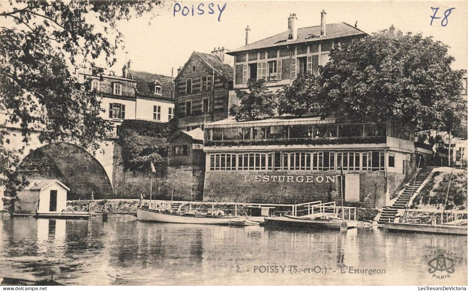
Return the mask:
[[[174,14],[174,5],[189,8]],[[203,15],[197,7],[203,3]],[[207,8],[214,3],[214,14]],[[219,7],[226,6],[219,13]],[[450,46],[455,58],[454,69],[468,67],[468,10],[467,1],[165,1],[165,7],[150,15],[120,22],[125,48],[119,50],[117,64],[111,69],[120,72],[127,60],[131,68],[155,74],[171,75],[174,67],[182,67],[193,51],[210,53],[214,47],[236,49],[245,44],[245,28],[249,25],[249,42],[287,30],[287,17],[296,14],[295,28],[319,25],[320,12],[327,13],[327,23],[346,22],[367,33],[387,29],[391,25],[404,32],[433,36]],[[195,15],[192,15],[194,6]],[[431,24],[433,8],[439,7]],[[446,11],[449,8],[452,10]],[[187,12],[188,10],[184,10]],[[442,26],[444,14],[450,14]],[[150,23],[149,23],[150,21]],[[127,52],[127,53],[126,53]]]

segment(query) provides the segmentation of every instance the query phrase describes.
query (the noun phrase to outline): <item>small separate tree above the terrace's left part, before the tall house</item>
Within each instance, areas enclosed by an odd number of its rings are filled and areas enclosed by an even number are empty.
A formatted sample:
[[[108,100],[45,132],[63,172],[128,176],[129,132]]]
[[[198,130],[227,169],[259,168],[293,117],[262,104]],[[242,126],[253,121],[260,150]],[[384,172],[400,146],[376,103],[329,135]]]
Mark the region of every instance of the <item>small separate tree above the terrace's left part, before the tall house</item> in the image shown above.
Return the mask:
[[[249,79],[247,87],[249,93],[236,89],[240,105],[231,106],[230,115],[235,116],[237,121],[261,119],[265,115],[274,116],[277,102],[275,95],[265,87],[265,80]]]

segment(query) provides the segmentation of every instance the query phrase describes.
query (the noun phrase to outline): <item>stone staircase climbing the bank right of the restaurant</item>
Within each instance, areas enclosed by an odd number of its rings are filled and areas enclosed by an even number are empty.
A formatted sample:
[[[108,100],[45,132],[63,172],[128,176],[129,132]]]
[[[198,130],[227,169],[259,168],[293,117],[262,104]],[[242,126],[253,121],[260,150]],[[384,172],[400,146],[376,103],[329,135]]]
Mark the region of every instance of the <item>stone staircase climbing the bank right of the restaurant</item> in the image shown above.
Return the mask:
[[[378,223],[384,224],[386,222],[393,222],[394,218],[396,218],[397,211],[399,209],[405,209],[407,203],[409,202],[412,195],[416,192],[416,190],[422,185],[424,180],[428,177],[428,175],[433,170],[432,167],[424,167],[421,168],[417,176],[414,180],[412,180],[408,185],[405,187],[404,191],[399,195],[396,201],[394,201],[393,206],[388,206],[383,209],[381,215],[379,216]]]

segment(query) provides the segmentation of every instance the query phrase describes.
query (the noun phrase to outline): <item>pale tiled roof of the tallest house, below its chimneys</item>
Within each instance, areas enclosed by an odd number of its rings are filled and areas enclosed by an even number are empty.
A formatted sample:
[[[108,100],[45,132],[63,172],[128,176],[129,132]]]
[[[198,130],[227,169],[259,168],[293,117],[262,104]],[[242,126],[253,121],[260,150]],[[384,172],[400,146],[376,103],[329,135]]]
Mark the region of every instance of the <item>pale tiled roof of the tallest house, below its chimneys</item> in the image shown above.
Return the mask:
[[[257,50],[257,49],[266,48],[266,47],[308,43],[308,42],[315,42],[315,41],[333,39],[333,38],[338,38],[338,37],[350,37],[350,36],[359,36],[359,35],[365,36],[366,35],[366,33],[363,32],[362,30],[359,30],[356,27],[353,27],[352,25],[347,24],[345,22],[326,24],[325,31],[326,31],[326,35],[320,36],[321,35],[320,25],[299,28],[297,31],[297,38],[295,40],[287,40],[288,31],[284,31],[272,37],[267,37],[259,41],[253,42],[251,44],[244,45],[240,48],[237,48],[227,53],[234,54],[234,52]]]

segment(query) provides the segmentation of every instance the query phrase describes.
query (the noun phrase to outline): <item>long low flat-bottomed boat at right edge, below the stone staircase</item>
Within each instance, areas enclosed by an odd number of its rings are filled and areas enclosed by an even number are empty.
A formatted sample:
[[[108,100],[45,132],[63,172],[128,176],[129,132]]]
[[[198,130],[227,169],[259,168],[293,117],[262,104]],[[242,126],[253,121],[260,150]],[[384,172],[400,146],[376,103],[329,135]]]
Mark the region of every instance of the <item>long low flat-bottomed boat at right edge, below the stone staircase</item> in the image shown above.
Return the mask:
[[[432,234],[468,235],[467,226],[456,225],[429,225],[429,224],[405,224],[405,223],[385,223],[387,231],[395,232],[420,232]]]

